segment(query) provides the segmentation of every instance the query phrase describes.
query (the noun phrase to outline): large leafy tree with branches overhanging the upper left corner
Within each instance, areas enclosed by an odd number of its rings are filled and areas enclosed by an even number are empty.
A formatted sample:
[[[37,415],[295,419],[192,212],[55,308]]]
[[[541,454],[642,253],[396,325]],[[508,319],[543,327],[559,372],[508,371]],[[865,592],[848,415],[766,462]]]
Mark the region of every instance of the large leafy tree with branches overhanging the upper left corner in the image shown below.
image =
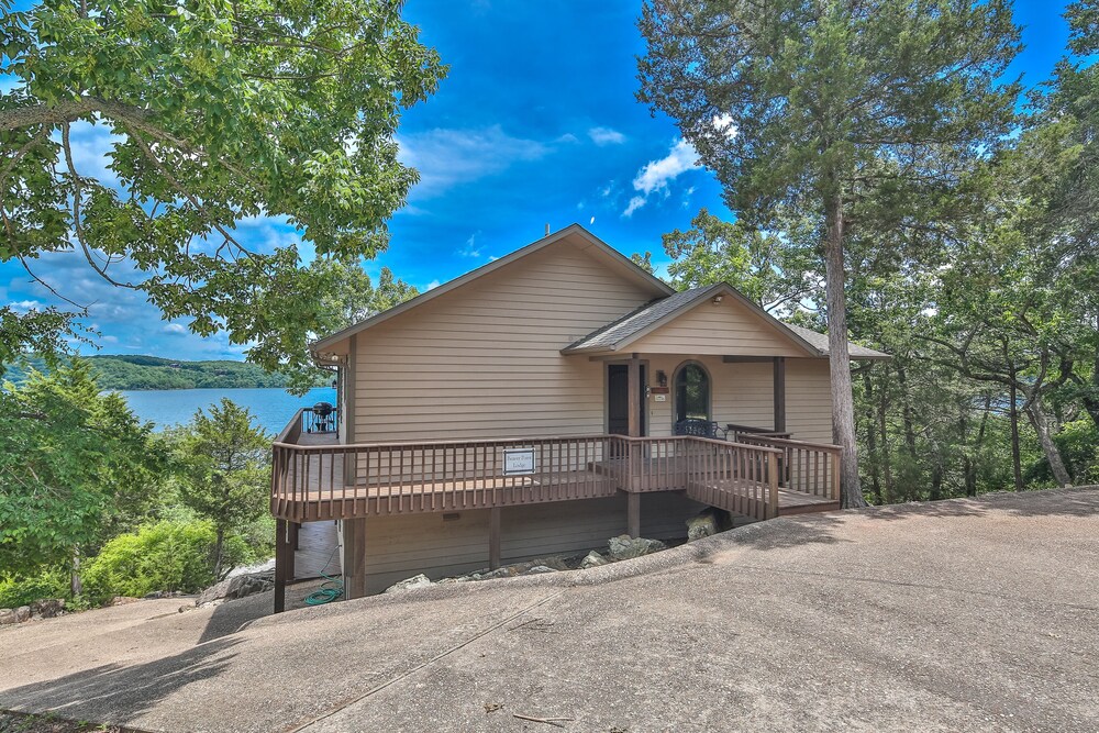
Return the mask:
[[[399,112],[445,74],[397,0],[2,0],[0,260],[73,307],[0,312],[0,358],[54,349],[86,313],[35,264],[75,251],[200,335],[227,332],[268,369],[308,365],[315,273],[297,244],[235,225],[285,219],[320,257],[374,256],[417,179]],[[79,169],[74,129],[111,135],[113,178]],[[58,315],[63,321],[58,323]]]

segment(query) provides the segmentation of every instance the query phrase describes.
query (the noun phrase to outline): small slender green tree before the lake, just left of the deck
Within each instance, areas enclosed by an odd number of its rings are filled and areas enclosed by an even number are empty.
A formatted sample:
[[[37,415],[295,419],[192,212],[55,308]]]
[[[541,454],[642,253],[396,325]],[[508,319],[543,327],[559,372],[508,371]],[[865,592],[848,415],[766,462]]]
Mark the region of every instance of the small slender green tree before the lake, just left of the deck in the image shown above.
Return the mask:
[[[247,409],[223,398],[209,414],[195,413],[175,443],[180,499],[213,522],[213,568],[221,578],[226,536],[267,510],[270,436],[252,425]]]

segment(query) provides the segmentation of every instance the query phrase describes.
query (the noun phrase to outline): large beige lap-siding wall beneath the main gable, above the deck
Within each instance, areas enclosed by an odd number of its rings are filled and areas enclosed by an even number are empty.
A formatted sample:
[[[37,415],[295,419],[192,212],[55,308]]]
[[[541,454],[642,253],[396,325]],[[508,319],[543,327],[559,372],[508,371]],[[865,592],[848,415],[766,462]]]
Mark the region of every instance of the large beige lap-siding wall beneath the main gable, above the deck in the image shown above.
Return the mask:
[[[358,336],[357,442],[603,432],[602,365],[559,351],[656,297],[568,241]]]

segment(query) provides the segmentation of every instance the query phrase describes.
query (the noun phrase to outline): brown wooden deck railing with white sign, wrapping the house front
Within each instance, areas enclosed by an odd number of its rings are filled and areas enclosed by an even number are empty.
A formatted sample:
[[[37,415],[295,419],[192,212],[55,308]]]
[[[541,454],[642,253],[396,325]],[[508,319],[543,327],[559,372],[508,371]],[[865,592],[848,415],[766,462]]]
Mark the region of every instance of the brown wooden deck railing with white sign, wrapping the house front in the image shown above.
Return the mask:
[[[308,410],[308,408],[307,408]],[[295,522],[686,491],[755,519],[780,490],[839,500],[840,448],[769,435],[676,435],[299,445],[299,411],[273,448],[271,512]],[[785,501],[785,500],[784,500]]]

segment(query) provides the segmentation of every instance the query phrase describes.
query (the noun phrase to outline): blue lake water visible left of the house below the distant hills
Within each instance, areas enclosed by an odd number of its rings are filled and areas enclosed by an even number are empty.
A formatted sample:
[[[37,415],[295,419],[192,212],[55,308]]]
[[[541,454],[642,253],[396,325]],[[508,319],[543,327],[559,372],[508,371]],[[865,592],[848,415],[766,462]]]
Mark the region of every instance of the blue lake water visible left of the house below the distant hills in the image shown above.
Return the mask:
[[[126,398],[138,418],[156,423],[157,430],[190,422],[197,410],[206,410],[222,398],[229,398],[247,408],[253,423],[273,436],[286,427],[298,408],[336,402],[336,390],[331,387],[317,387],[302,397],[284,389],[148,389],[119,393]]]

